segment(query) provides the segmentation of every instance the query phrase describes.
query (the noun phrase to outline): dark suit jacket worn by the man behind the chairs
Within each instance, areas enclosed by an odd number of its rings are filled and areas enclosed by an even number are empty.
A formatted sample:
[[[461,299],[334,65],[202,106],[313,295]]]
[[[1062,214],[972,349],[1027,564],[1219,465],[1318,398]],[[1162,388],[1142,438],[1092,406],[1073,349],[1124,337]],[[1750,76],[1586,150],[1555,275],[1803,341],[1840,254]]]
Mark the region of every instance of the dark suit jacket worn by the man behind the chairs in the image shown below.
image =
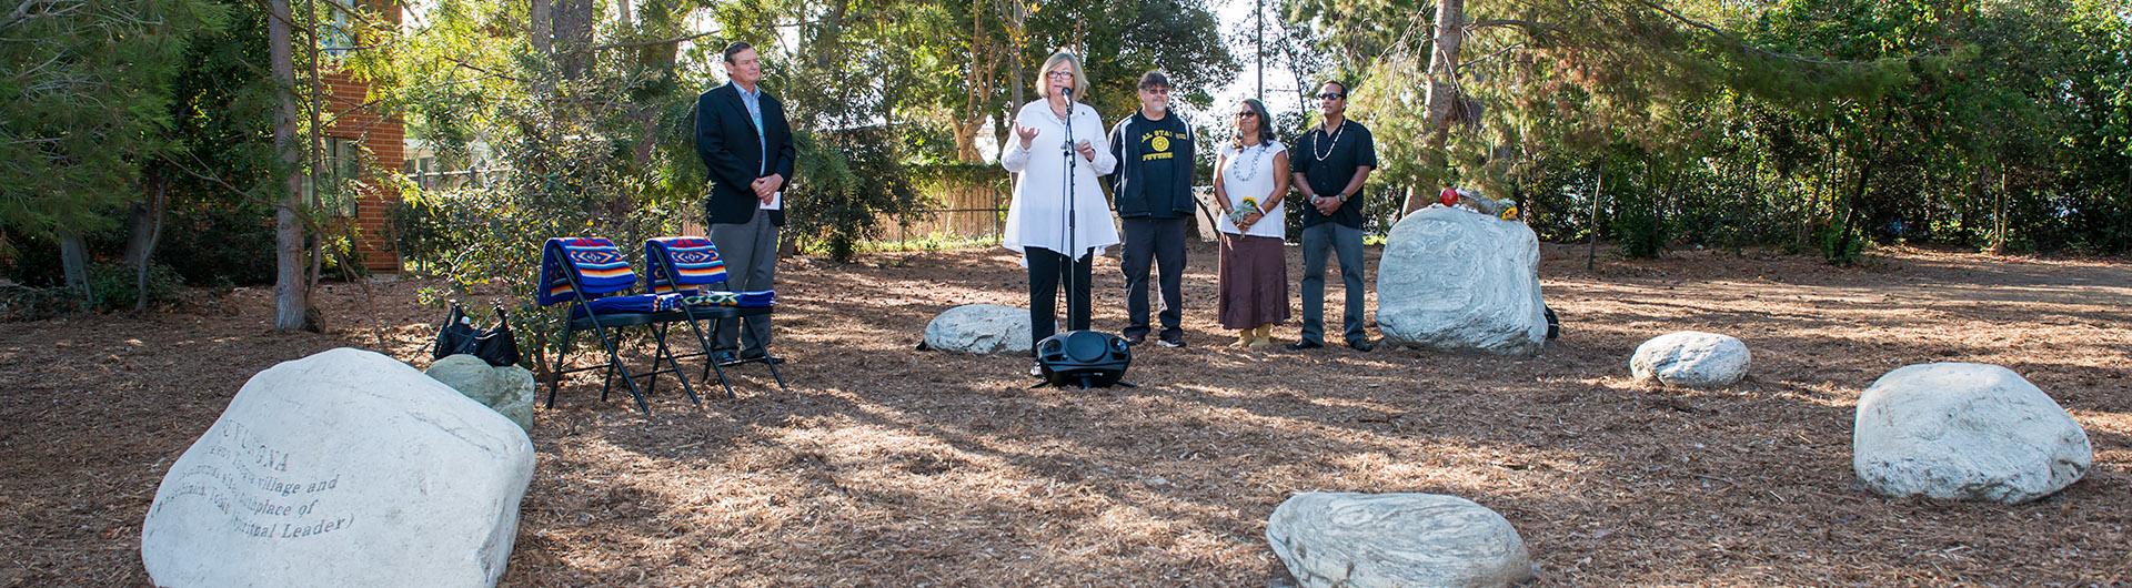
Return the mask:
[[[748,107],[740,102],[740,87],[725,83],[695,98],[695,156],[704,160],[710,177],[710,200],[704,202],[708,224],[744,224],[755,217],[755,190],[759,177],[780,175],[785,187],[793,183],[793,130],[785,121],[785,104],[763,92],[763,143],[757,143],[755,121]],[[770,166],[763,166],[765,153]],[[770,211],[770,224],[782,226],[785,211]]]

